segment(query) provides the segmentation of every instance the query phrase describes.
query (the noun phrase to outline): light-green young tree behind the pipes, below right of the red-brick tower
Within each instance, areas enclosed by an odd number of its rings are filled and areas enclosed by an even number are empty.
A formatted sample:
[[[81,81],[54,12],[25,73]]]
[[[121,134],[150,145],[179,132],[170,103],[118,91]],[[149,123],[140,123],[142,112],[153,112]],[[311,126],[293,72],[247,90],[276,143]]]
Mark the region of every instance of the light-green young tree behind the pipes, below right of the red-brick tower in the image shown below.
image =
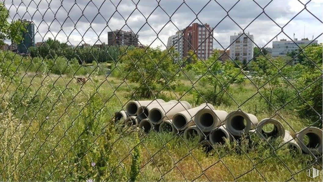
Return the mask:
[[[239,74],[240,70],[235,68],[232,62],[221,63],[218,60],[219,56],[219,50],[215,49],[207,60],[198,61],[192,65],[192,70],[196,75],[202,76],[201,82],[213,87],[213,91],[206,91],[203,95],[212,104],[217,105],[222,103],[224,90],[228,90],[233,83],[240,84],[244,81],[244,77]]]

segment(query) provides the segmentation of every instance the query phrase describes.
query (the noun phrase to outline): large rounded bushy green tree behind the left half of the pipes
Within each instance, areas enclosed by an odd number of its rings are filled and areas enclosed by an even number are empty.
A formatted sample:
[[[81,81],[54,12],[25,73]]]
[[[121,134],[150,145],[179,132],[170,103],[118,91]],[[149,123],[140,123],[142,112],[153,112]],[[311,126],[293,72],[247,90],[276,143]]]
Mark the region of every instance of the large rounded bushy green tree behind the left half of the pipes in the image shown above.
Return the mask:
[[[150,98],[161,88],[176,87],[179,74],[168,50],[135,48],[121,56],[120,61],[125,64],[127,79],[140,85],[136,92],[140,97]]]

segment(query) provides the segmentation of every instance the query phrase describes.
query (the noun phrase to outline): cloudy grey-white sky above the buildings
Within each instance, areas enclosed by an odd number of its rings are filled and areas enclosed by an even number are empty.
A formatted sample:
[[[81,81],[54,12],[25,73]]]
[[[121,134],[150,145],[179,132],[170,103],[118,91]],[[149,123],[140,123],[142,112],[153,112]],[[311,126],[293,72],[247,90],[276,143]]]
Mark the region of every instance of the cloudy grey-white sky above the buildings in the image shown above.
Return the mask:
[[[48,37],[72,45],[108,42],[108,31],[122,29],[138,34],[144,45],[164,49],[170,35],[194,22],[214,27],[221,44],[214,41],[214,48],[227,48],[229,36],[243,29],[258,46],[272,47],[276,35],[289,39],[294,33],[322,42],[322,0],[5,0],[5,6],[11,19],[34,22],[36,42]]]

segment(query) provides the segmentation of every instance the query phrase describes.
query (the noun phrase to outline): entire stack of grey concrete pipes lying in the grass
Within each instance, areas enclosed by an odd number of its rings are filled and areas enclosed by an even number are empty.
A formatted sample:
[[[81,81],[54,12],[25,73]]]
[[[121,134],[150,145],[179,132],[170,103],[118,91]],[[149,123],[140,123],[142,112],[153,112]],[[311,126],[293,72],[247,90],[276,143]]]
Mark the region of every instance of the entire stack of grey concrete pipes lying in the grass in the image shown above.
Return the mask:
[[[128,127],[139,127],[146,133],[155,130],[182,134],[186,139],[198,137],[202,145],[209,145],[207,147],[256,133],[263,140],[281,137],[281,146],[287,145],[299,154],[322,154],[322,130],[319,128],[307,127],[292,137],[276,119],[266,118],[258,122],[253,114],[241,110],[228,114],[207,103],[192,108],[186,101],[130,101],[125,111],[115,113],[115,121]],[[274,126],[272,131],[263,130],[268,124]]]

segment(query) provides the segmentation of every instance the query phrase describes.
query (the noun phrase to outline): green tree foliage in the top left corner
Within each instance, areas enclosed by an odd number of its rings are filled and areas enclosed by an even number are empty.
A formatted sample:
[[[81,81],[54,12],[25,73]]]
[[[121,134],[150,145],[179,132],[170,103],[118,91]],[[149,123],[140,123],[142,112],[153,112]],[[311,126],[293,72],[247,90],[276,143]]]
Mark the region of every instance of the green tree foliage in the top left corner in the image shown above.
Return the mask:
[[[0,46],[4,44],[3,40],[9,39],[19,43],[23,40],[22,32],[26,31],[26,24],[20,21],[8,22],[9,11],[0,2]]]

